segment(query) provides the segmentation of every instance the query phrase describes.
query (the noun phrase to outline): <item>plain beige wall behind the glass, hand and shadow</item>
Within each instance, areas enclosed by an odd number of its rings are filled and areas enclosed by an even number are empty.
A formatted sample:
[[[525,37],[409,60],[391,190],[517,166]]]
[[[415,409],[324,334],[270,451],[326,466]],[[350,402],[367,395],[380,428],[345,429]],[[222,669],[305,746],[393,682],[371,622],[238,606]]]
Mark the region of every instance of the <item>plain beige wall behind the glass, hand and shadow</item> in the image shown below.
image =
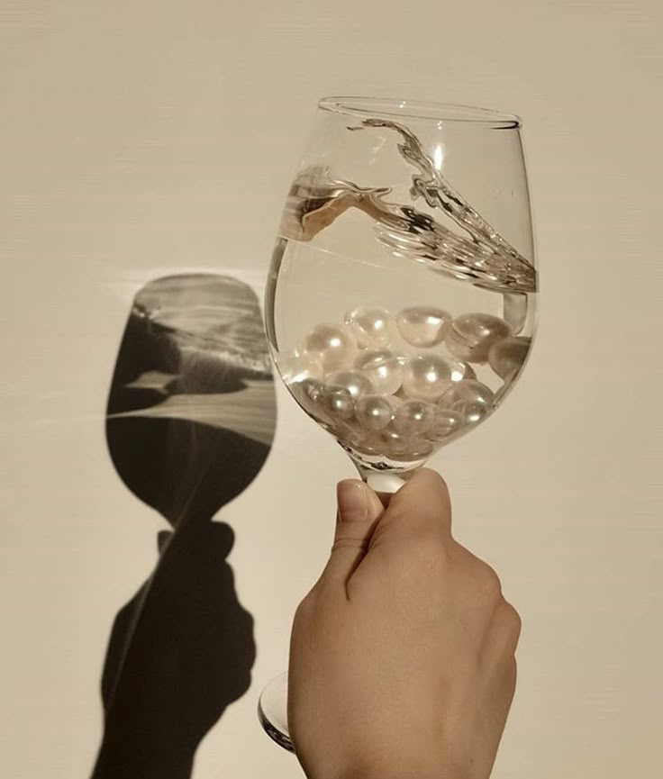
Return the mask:
[[[504,409],[433,462],[522,612],[495,779],[663,775],[662,33],[658,0],[0,0],[3,775],[89,774],[111,620],[155,559],[162,523],[104,448],[132,294],[192,267],[261,284],[314,100],[348,93],[525,122],[539,340]],[[279,400],[223,514],[254,681],[195,779],[299,775],[254,709],[350,466]]]

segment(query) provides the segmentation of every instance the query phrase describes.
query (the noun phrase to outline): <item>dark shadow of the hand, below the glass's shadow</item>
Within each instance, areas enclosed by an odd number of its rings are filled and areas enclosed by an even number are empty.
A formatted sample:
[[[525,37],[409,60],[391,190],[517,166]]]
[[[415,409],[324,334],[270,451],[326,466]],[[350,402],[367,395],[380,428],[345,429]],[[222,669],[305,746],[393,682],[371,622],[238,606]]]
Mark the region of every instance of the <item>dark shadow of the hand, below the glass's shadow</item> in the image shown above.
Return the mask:
[[[253,620],[225,562],[232,543],[226,524],[183,525],[168,539],[153,577],[118,613],[104,666],[98,763],[104,765],[105,752],[115,768],[95,770],[97,779],[189,775],[205,733],[248,690]]]

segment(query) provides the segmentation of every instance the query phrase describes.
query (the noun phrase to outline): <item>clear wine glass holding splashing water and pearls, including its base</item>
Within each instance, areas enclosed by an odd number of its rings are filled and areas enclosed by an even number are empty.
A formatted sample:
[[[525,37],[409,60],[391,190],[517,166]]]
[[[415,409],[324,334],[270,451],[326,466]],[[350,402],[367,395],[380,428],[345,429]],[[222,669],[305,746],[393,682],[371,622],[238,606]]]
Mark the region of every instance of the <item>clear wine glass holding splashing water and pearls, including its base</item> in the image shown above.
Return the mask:
[[[537,271],[520,119],[328,97],[286,198],[266,327],[278,373],[360,476],[393,492],[504,402]],[[259,717],[292,749],[286,675]]]

